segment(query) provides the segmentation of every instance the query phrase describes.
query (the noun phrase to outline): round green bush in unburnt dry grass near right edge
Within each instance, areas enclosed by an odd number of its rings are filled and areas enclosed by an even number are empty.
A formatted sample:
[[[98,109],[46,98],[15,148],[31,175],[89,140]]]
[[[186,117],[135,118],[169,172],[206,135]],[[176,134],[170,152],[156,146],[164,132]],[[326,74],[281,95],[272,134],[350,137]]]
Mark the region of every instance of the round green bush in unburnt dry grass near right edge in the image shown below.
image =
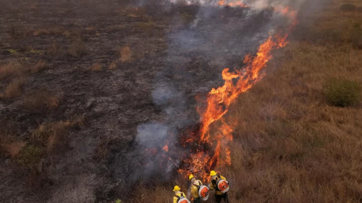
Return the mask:
[[[323,86],[327,101],[336,106],[353,106],[360,102],[361,86],[355,81],[332,78]]]

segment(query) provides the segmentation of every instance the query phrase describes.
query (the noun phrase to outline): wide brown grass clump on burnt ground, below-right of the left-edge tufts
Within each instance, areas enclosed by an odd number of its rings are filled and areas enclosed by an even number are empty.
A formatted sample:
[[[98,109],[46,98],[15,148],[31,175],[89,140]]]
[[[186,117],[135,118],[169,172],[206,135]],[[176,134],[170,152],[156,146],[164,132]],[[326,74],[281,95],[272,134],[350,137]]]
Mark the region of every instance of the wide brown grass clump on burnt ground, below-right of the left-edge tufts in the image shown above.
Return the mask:
[[[23,99],[23,107],[35,112],[51,110],[58,107],[58,105],[59,98],[45,90],[36,91]]]

